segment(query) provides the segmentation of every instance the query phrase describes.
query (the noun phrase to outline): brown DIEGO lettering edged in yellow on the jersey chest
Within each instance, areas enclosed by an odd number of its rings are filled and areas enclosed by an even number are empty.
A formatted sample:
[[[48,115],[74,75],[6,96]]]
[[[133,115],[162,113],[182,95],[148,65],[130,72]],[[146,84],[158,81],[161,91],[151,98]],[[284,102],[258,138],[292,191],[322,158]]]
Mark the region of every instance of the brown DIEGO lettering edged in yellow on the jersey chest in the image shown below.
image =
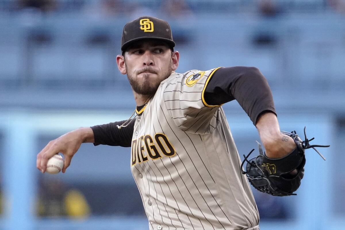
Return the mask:
[[[154,138],[147,134],[132,140],[131,166],[149,159],[157,160],[162,156],[172,157],[175,153],[174,147],[164,133],[156,133]]]

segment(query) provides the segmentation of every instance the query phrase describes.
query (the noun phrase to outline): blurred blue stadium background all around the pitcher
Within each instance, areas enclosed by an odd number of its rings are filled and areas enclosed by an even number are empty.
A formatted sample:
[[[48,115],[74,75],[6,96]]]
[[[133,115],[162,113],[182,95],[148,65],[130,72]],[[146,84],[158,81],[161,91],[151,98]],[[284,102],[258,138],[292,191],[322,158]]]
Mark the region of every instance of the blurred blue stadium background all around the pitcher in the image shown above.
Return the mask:
[[[50,140],[131,114],[115,60],[124,24],[143,15],[170,23],[178,72],[255,66],[281,129],[331,144],[326,161],[307,151],[297,196],[253,191],[260,229],[344,229],[344,0],[0,0],[0,229],[148,229],[128,148],[82,144],[65,174],[36,169]],[[255,127],[237,102],[224,109],[248,153]]]

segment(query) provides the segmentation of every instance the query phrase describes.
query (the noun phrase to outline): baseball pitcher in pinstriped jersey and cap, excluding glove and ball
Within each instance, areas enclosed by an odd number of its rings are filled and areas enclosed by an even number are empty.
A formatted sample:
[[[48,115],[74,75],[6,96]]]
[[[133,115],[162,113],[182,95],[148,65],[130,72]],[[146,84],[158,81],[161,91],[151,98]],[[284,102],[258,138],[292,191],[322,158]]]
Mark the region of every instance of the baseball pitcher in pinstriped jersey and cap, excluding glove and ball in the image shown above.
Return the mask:
[[[254,67],[176,73],[179,53],[169,24],[153,17],[128,22],[118,69],[127,74],[136,109],[126,121],[86,127],[50,141],[37,168],[57,152],[62,172],[81,143],[131,147],[130,167],[149,229],[258,230],[259,213],[222,104],[237,100],[257,128],[269,158],[296,149],[280,133],[272,93]]]

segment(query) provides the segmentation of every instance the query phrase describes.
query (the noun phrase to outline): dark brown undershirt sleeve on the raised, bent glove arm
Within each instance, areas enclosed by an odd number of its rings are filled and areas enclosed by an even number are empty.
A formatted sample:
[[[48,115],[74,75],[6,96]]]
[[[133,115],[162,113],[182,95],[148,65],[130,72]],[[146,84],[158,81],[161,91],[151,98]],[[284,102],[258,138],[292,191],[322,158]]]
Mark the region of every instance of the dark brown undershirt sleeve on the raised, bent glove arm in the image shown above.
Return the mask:
[[[254,125],[261,114],[276,114],[267,80],[255,67],[216,70],[206,86],[204,99],[209,105],[221,105],[236,99]]]

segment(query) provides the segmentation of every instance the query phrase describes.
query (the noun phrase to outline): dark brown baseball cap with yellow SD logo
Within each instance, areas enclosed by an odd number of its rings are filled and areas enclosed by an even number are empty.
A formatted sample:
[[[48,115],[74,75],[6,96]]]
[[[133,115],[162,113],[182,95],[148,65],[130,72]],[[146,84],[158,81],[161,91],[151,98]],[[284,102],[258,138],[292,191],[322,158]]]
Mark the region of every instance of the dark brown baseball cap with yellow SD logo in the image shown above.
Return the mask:
[[[122,31],[121,50],[125,52],[133,42],[141,39],[158,39],[165,41],[171,49],[175,47],[168,22],[149,16],[128,22]]]

